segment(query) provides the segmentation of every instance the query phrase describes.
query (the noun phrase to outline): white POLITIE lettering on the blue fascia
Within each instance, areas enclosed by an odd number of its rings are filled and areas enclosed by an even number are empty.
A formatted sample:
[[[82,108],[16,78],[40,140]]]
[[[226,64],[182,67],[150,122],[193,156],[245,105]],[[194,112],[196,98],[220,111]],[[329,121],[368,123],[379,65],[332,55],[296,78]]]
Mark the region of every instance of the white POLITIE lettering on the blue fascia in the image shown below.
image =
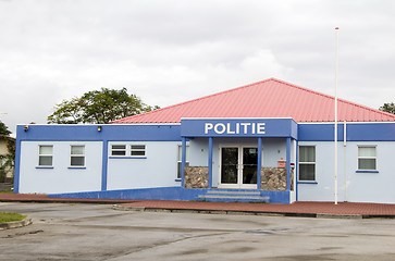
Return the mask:
[[[264,134],[264,123],[205,123],[205,134]]]

